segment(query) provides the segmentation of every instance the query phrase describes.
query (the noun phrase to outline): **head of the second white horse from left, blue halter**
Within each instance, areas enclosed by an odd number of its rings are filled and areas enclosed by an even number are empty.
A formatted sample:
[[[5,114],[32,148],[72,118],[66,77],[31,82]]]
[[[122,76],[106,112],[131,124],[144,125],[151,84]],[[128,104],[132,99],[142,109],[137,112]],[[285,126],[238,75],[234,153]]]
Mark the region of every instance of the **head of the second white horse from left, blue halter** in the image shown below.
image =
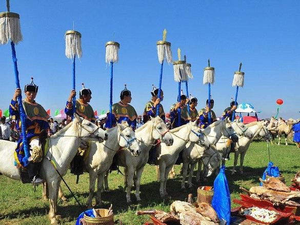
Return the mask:
[[[133,156],[138,156],[141,151],[135,138],[135,133],[128,126],[127,122],[124,121],[122,124],[117,124],[118,127],[118,143],[124,149],[131,152]]]

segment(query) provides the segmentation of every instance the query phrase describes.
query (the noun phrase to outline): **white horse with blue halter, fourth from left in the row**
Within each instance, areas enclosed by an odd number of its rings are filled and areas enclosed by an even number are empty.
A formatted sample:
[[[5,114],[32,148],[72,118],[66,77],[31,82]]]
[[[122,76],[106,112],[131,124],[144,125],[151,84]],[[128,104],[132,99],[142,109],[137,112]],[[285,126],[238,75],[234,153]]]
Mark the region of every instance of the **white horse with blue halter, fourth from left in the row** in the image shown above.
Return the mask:
[[[161,187],[159,193],[161,197],[165,197],[168,193],[166,191],[166,184],[168,174],[175,164],[179,152],[182,151],[187,142],[199,142],[201,145],[209,146],[210,142],[201,129],[196,126],[195,122],[189,122],[186,125],[170,130],[174,139],[172,146],[167,146],[165,143],[159,145],[156,149],[155,164],[159,166],[159,179]]]

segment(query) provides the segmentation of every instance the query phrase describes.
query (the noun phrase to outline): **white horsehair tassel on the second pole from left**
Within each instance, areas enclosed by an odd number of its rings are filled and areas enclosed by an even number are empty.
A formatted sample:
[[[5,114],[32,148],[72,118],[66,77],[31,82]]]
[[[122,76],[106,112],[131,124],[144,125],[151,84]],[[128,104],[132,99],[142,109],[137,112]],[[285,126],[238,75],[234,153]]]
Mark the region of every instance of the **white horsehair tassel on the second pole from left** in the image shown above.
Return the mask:
[[[77,55],[78,58],[82,57],[81,48],[81,33],[77,31],[67,31],[65,35],[66,39],[66,56],[67,58],[74,58]]]

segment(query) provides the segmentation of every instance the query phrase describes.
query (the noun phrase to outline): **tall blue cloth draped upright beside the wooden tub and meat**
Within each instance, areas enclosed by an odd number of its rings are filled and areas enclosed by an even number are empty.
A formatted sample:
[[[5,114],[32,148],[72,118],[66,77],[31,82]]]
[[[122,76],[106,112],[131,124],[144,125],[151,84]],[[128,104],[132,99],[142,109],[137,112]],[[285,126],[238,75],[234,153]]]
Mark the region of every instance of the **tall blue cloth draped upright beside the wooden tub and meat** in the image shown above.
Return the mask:
[[[225,165],[221,167],[219,174],[215,178],[213,189],[212,207],[220,220],[226,220],[227,224],[230,224],[231,201],[228,182],[225,175]]]

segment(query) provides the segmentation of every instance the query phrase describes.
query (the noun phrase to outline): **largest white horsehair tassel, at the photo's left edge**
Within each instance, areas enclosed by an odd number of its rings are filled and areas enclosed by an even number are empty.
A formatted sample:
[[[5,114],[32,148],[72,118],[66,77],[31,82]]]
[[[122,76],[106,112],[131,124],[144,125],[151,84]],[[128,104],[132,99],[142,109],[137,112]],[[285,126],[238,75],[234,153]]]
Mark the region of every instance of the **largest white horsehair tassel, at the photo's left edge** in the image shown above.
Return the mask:
[[[19,15],[12,12],[0,13],[0,44],[9,41],[18,44],[23,40]]]

